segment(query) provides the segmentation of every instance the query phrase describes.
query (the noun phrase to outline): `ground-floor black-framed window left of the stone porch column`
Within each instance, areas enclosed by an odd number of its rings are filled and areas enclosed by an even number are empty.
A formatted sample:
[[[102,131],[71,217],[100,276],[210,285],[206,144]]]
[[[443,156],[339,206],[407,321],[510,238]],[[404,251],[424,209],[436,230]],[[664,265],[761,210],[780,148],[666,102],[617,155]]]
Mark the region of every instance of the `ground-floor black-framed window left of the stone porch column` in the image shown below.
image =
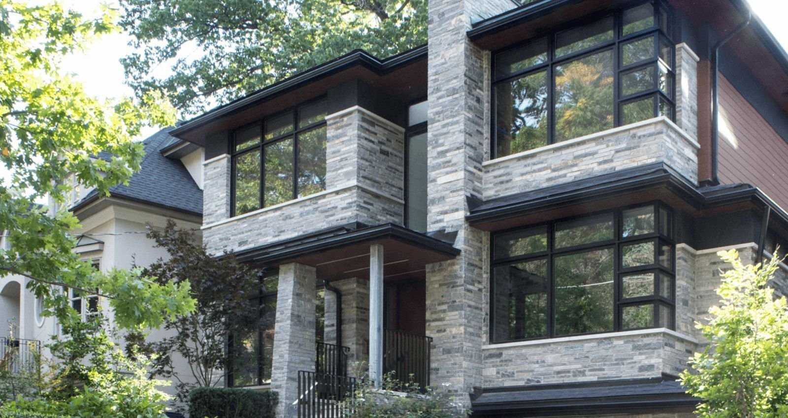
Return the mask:
[[[279,272],[270,270],[260,277],[257,294],[259,322],[242,335],[233,335],[228,342],[231,368],[228,387],[250,387],[271,383],[273,330],[277,319]]]

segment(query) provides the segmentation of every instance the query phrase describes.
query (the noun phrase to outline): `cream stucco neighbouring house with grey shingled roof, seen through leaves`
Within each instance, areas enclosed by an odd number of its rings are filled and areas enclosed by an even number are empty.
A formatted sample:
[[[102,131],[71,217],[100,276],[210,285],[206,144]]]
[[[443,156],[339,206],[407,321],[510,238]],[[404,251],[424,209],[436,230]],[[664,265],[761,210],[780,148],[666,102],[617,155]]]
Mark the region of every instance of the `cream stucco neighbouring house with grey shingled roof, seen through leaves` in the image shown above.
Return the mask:
[[[165,227],[166,220],[173,219],[178,227],[199,231],[203,210],[203,149],[169,135],[173,128],[158,131],[143,141],[145,157],[141,169],[128,181],[128,185],[110,188],[110,196],[99,198],[91,189],[72,181],[72,194],[65,203],[80,220],[80,229],[72,231],[77,237],[75,251],[96,268],[108,271],[111,268],[147,266],[160,257],[168,257],[162,248],[154,248],[147,239],[147,225]],[[109,154],[99,154],[109,159]],[[50,202],[51,211],[58,210]],[[0,239],[0,244],[9,249],[9,243]],[[43,350],[48,355],[46,344],[51,336],[59,335],[60,327],[54,317],[41,315],[42,305],[35,295],[26,290],[27,280],[21,276],[6,276],[0,289],[0,324],[12,324],[9,333],[19,342],[17,364],[30,356],[30,350]],[[95,294],[69,292],[71,304],[82,316],[104,314],[112,321],[113,313],[108,301]],[[8,329],[8,328],[6,328]],[[151,331],[151,339],[160,338],[164,331]],[[12,335],[0,332],[0,353],[5,353],[2,338]],[[176,359],[179,375],[189,381],[188,364]],[[192,378],[193,379],[193,378]],[[174,394],[175,387],[162,390]]]

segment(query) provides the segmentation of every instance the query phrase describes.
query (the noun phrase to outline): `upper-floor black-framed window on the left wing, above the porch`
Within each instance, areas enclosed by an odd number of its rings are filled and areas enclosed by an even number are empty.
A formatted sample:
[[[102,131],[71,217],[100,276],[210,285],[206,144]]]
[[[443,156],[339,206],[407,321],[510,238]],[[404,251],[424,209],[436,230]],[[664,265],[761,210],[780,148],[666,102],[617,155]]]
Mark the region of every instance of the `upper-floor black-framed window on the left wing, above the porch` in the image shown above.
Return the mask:
[[[235,131],[232,216],[325,191],[325,99]]]

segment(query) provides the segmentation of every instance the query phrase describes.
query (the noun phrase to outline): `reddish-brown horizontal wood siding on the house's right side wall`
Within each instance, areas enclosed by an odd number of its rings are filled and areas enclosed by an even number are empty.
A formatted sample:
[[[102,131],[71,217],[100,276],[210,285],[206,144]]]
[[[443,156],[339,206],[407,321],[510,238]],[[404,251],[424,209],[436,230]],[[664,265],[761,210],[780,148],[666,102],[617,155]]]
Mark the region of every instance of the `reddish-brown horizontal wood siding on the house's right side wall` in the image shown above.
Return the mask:
[[[719,106],[720,183],[752,184],[788,209],[788,143],[723,76]]]

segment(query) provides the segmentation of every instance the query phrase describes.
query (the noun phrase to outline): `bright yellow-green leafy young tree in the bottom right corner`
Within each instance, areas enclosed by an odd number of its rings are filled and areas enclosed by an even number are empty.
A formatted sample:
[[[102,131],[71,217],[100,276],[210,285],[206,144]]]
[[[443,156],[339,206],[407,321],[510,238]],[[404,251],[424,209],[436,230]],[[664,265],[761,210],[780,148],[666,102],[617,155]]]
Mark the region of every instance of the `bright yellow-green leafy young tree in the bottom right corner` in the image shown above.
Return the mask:
[[[703,400],[701,418],[788,416],[788,306],[768,284],[781,260],[775,253],[764,266],[744,265],[736,250],[718,254],[733,268],[723,272],[712,320],[697,324],[710,344],[682,383]]]

